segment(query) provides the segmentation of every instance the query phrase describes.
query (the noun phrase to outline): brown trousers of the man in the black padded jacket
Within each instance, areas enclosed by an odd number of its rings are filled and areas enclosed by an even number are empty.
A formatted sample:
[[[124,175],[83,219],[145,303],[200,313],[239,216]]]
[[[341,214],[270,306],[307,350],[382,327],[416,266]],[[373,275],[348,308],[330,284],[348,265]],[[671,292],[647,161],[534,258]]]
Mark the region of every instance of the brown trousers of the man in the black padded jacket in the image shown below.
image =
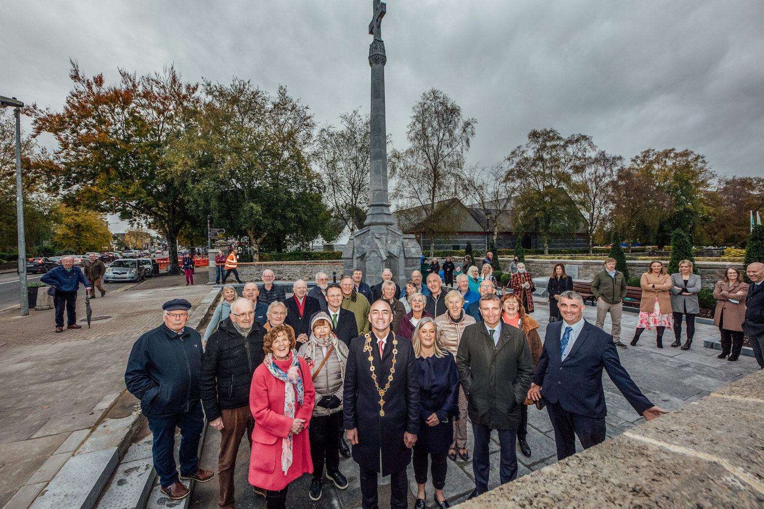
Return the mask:
[[[218,482],[220,483],[220,507],[234,507],[234,469],[236,453],[241,437],[247,433],[250,449],[254,417],[249,406],[222,411],[223,429],[220,430],[220,455],[218,456]]]

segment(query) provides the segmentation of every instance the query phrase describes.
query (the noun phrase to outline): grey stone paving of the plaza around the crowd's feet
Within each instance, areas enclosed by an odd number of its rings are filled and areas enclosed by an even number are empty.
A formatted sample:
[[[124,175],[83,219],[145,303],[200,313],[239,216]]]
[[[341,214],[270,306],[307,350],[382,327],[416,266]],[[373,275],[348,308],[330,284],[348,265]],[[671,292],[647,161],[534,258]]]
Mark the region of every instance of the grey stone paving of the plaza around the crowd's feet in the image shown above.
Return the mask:
[[[539,322],[539,335],[542,340],[549,318],[549,307],[545,299],[536,301],[536,312],[533,317]],[[596,308],[588,307],[584,310],[584,318],[594,323]],[[636,313],[623,313],[622,340],[631,340],[637,323]],[[605,321],[605,330],[610,330],[610,318]],[[717,359],[719,352],[703,347],[703,340],[717,339],[718,330],[712,325],[697,324],[694,342],[691,350],[683,351],[668,346],[673,342],[673,331],[667,330],[664,336],[665,347],[658,349],[655,343],[655,333],[645,331],[642,339],[636,347],[626,350],[618,350],[623,366],[629,371],[639,388],[654,404],[673,411],[691,401],[703,398],[733,380],[741,378],[756,371],[756,360],[753,357],[743,357],[736,362],[728,362],[727,359]],[[607,436],[616,437],[623,431],[636,424],[643,423],[643,417],[639,417],[631,408],[618,389],[610,382],[607,374],[603,374],[605,398],[607,400]],[[552,424],[545,410],[539,411],[535,407],[529,408],[528,443],[533,449],[533,455],[526,458],[517,451],[519,462],[519,475],[526,475],[534,470],[542,469],[557,460],[555,449],[554,432]],[[469,441],[468,450],[471,453],[473,443],[472,433],[468,427]],[[497,433],[494,432],[494,440],[490,445],[491,470],[489,489],[499,485],[499,443]],[[202,451],[202,465],[214,469],[217,465],[219,452],[220,433],[208,429],[206,442]],[[581,447],[578,445],[578,449]],[[254,495],[247,481],[249,465],[249,446],[244,441],[239,449],[236,472],[236,507],[265,507],[264,498]],[[311,475],[303,475],[290,485],[287,504],[290,507],[359,507],[361,504],[361,488],[358,484],[358,466],[351,458],[341,458],[340,470],[348,477],[350,486],[346,490],[338,490],[325,480],[323,495],[319,501],[311,501],[308,497]],[[414,481],[413,467],[409,466],[409,507],[413,507],[416,498],[416,482]],[[380,478],[380,507],[390,507],[390,477]],[[465,501],[467,495],[474,489],[474,476],[472,463],[457,459],[456,462],[448,462],[448,476],[444,489],[445,496],[450,504]],[[432,500],[434,489],[428,483],[427,507],[435,507]],[[192,507],[217,507],[218,483],[214,480],[206,483],[196,483],[191,501]]]

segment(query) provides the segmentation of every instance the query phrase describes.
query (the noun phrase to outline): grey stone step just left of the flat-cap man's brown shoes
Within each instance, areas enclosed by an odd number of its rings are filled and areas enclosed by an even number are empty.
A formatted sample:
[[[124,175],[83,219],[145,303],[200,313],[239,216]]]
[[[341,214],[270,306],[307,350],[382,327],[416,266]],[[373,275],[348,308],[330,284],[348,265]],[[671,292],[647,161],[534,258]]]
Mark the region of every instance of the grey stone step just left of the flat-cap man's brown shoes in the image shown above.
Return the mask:
[[[152,437],[132,444],[105,485],[95,509],[142,509],[146,505],[154,478],[151,459]]]

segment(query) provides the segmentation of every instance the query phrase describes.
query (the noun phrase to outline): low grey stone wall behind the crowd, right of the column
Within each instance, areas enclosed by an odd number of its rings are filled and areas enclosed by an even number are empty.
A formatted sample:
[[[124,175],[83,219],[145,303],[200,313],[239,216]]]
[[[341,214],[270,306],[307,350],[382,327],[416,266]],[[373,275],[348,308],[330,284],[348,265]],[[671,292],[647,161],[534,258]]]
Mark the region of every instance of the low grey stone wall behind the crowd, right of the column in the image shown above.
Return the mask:
[[[482,260],[482,259],[481,259]],[[481,260],[478,260],[480,262]],[[440,260],[439,260],[440,261]],[[454,263],[463,263],[464,259],[459,256],[452,257]],[[662,260],[665,266],[669,265],[669,259]],[[509,271],[510,258],[500,258],[499,264],[505,271]],[[552,269],[558,263],[565,264],[565,272],[571,275],[573,279],[581,281],[591,281],[594,279],[594,275],[604,269],[604,259],[533,259],[526,258],[526,269],[534,277],[546,277],[552,275]],[[650,268],[649,260],[629,260],[626,262],[626,266],[629,267],[630,277],[639,277],[643,272],[647,272]],[[731,262],[697,262],[695,266],[701,272],[701,286],[702,288],[714,289],[720,279],[724,279],[724,272],[727,272],[729,267],[734,267],[740,271],[743,270],[742,263]]]

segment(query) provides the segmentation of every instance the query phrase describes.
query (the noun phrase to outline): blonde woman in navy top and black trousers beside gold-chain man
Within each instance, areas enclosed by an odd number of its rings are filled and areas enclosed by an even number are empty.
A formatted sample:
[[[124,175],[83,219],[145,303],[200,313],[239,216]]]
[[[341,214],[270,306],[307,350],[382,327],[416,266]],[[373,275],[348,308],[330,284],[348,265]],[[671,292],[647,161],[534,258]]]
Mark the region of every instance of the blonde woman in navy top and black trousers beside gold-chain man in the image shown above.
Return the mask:
[[[414,475],[419,492],[415,509],[425,507],[427,456],[432,457],[432,485],[435,505],[445,509],[443,496],[448,469],[448,447],[454,428],[452,416],[459,413],[459,370],[452,353],[441,346],[438,330],[432,318],[422,318],[414,330],[412,345],[419,375],[419,437],[414,444]]]

